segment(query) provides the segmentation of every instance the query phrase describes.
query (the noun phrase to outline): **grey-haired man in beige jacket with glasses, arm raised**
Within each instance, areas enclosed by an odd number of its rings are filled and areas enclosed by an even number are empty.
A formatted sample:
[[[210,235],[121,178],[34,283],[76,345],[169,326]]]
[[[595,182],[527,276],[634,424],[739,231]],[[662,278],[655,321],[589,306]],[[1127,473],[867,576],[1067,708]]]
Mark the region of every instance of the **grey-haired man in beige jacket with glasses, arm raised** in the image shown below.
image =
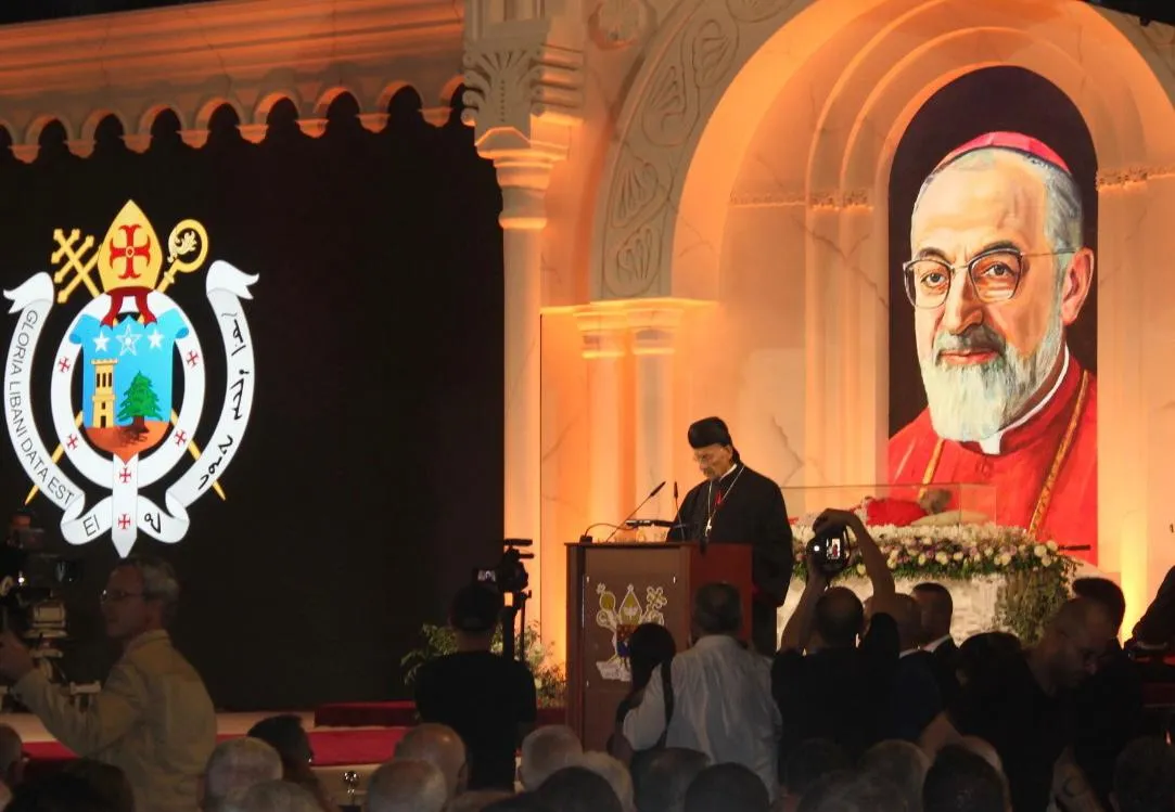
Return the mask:
[[[197,779],[216,746],[208,691],[166,631],[179,596],[166,562],[132,557],[114,568],[102,615],[122,657],[85,710],[46,679],[14,635],[0,635],[0,676],[16,697],[61,744],[120,767],[145,812],[195,810]]]

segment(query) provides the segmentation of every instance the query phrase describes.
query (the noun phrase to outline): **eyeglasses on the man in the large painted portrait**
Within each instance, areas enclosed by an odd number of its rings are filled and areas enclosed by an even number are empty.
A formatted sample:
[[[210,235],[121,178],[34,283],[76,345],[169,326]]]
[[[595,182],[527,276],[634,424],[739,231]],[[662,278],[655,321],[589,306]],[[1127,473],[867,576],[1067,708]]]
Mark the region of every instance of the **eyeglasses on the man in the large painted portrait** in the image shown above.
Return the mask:
[[[993,249],[975,255],[969,262],[951,265],[936,257],[911,259],[901,266],[906,282],[906,297],[915,307],[941,307],[951,292],[955,273],[966,270],[975,296],[983,304],[1007,302],[1020,290],[1028,257],[1055,257],[1075,253],[1074,249],[1023,253],[1015,249]]]

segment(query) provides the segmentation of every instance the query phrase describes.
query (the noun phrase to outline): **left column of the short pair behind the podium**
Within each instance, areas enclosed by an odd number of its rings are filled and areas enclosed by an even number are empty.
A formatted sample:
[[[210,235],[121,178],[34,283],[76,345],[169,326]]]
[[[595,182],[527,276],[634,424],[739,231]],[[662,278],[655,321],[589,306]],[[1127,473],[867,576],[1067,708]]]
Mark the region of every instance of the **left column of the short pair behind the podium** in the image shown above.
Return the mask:
[[[627,320],[617,311],[576,314],[588,361],[588,419],[590,424],[591,517],[616,520],[624,510],[620,468],[620,359],[625,354]]]

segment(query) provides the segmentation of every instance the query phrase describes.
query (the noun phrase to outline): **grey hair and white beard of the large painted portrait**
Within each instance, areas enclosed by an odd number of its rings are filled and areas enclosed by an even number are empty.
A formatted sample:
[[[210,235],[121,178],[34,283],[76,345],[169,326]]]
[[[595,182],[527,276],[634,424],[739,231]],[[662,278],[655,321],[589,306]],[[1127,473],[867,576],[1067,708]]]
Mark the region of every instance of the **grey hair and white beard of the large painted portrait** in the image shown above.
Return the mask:
[[[1065,349],[1065,325],[1061,322],[1065,272],[1074,252],[1082,245],[1081,189],[1073,177],[1046,161],[998,147],[968,153],[931,172],[918,192],[914,214],[926,190],[941,172],[947,169],[993,169],[1000,160],[998,153],[1022,161],[1045,187],[1045,238],[1055,253],[1054,295],[1045,336],[1033,352],[1020,353],[986,324],[975,327],[971,336],[940,332],[931,346],[919,352],[931,425],[939,437],[960,442],[985,440],[1008,426],[1023,413],[1048,380]],[[969,346],[980,337],[986,337],[986,346],[1001,347],[999,357],[992,363],[964,367],[942,367],[936,363],[941,351]]]

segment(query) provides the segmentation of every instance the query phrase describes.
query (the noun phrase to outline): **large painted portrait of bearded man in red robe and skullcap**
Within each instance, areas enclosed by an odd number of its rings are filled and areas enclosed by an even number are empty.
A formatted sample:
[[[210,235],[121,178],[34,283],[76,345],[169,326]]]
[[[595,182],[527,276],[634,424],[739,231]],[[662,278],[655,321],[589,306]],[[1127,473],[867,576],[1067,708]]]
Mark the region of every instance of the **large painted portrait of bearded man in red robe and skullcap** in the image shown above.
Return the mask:
[[[995,486],[995,520],[1095,544],[1097,391],[1069,353],[1094,275],[1081,191],[1018,133],[951,153],[922,184],[902,265],[927,408],[889,440],[889,481]]]

